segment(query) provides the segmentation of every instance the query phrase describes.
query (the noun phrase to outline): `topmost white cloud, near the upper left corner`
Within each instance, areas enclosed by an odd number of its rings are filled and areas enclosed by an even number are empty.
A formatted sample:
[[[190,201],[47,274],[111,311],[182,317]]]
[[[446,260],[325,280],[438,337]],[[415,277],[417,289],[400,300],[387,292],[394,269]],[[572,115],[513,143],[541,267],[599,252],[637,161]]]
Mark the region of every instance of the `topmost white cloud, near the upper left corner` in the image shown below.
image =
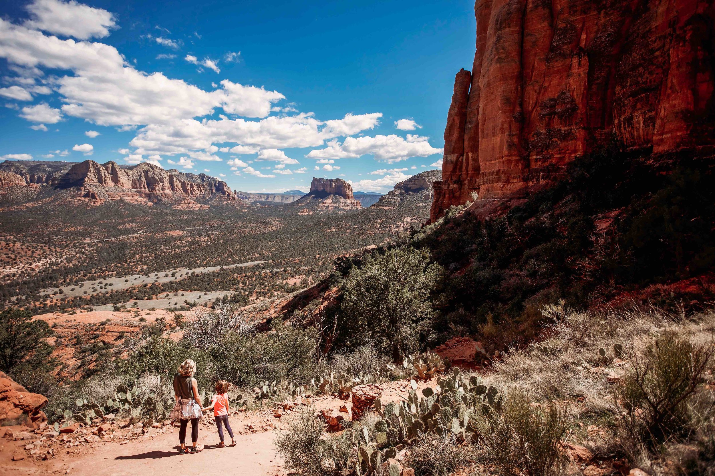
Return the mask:
[[[80,40],[104,38],[117,27],[114,14],[74,0],[34,0],[25,8],[30,14],[26,27]]]

